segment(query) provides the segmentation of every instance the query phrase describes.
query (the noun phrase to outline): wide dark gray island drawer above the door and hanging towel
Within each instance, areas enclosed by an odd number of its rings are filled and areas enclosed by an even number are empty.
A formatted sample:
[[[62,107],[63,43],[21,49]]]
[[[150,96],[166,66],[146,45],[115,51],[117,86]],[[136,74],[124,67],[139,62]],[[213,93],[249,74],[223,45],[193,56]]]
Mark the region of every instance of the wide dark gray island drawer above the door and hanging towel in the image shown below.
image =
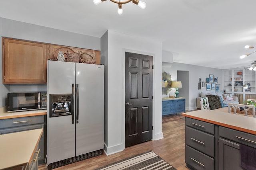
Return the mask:
[[[226,139],[230,139],[232,141],[256,148],[256,135],[237,131],[234,129],[229,129],[222,126],[219,127],[219,135]]]

